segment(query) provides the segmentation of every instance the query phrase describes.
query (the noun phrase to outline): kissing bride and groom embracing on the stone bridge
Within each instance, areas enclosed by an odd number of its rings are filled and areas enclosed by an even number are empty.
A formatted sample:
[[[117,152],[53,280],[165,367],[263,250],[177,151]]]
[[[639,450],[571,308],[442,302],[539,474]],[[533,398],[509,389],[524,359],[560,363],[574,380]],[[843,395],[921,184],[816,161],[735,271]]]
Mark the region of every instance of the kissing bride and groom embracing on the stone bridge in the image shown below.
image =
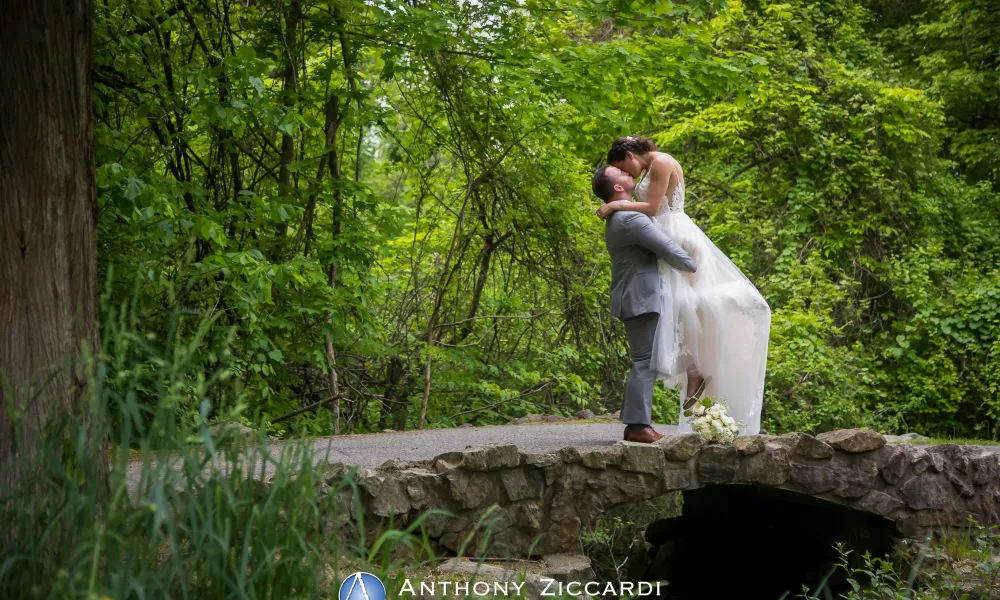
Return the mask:
[[[741,435],[759,433],[771,309],[684,213],[680,163],[652,140],[620,137],[591,189],[603,201],[597,214],[611,255],[611,315],[625,325],[632,362],[625,440],[663,437],[652,427],[658,379],[679,387],[681,432],[692,431],[683,413],[713,398]]]

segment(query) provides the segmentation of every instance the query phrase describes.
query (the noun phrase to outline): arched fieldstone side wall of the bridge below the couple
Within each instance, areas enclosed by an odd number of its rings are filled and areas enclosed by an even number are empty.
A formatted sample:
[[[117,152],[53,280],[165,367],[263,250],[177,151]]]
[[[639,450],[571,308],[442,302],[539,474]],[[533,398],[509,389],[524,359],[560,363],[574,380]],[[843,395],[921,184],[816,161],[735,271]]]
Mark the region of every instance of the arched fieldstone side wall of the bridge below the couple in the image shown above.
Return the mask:
[[[332,466],[327,485],[346,472]],[[427,519],[428,535],[458,552],[485,540],[488,523],[495,556],[578,553],[581,529],[605,511],[706,486],[762,486],[819,498],[884,517],[911,538],[967,527],[970,517],[1000,523],[997,454],[954,444],[887,445],[864,429],[748,436],[734,444],[683,434],[654,444],[547,453],[473,447],[362,468],[356,480],[369,522],[405,524],[442,509],[454,516]],[[351,508],[347,496],[338,502]]]

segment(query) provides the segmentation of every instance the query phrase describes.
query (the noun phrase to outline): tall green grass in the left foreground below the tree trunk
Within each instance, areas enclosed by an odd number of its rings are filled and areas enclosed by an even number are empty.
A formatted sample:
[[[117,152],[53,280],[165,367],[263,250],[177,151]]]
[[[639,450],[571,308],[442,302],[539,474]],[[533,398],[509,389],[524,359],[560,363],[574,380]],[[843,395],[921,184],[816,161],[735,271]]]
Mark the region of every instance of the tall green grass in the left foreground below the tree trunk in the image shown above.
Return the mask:
[[[359,504],[336,502],[357,497],[350,474],[327,481],[311,444],[272,456],[262,433],[213,437],[210,414],[240,407],[224,360],[192,360],[212,315],[174,308],[146,333],[135,306],[102,314],[89,428],[54,421],[22,485],[0,490],[0,598],[316,598],[345,568],[391,579],[433,558],[414,526],[372,540],[352,525]]]

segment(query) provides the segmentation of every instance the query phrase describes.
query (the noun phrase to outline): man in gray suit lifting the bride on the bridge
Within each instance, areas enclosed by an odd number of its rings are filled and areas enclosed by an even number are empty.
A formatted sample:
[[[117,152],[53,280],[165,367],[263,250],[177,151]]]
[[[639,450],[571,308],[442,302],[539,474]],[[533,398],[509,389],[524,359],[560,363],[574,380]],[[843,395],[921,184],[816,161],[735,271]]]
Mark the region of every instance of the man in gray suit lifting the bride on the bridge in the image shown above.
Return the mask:
[[[621,169],[603,167],[594,174],[590,186],[605,204],[629,202],[635,181]],[[640,212],[612,212],[604,228],[604,243],[611,254],[611,316],[625,324],[632,361],[622,402],[625,441],[648,444],[663,437],[651,425],[656,372],[650,368],[649,359],[660,310],[669,306],[669,298],[660,285],[657,260],[665,260],[671,267],[690,273],[697,266]]]

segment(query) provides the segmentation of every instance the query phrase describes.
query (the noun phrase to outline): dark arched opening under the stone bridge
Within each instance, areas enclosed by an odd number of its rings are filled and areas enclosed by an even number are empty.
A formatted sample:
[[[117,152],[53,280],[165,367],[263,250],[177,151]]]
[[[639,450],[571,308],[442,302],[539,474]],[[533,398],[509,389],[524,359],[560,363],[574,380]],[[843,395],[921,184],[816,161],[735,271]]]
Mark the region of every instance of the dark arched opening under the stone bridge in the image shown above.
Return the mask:
[[[679,517],[646,529],[645,579],[665,580],[677,600],[839,598],[847,591],[837,545],[860,566],[885,557],[901,536],[893,522],[795,492],[719,485],[683,493]]]

